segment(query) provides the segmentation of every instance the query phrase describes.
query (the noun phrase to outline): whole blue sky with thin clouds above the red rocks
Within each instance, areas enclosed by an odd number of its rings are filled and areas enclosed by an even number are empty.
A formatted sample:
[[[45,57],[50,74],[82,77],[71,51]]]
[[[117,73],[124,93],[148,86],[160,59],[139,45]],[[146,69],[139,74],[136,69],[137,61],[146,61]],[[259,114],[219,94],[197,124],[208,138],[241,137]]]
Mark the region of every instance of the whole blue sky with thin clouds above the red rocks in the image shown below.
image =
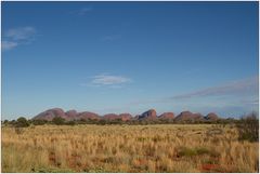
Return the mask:
[[[2,119],[258,111],[258,2],[2,2]]]

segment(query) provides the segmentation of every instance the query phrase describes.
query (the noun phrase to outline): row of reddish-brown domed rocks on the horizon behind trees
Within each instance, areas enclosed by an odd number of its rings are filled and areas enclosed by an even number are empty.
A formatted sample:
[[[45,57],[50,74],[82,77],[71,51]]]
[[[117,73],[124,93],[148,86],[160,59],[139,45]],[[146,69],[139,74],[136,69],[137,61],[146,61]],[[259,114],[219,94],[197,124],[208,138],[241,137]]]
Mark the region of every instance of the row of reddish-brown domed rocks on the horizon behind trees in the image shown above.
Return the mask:
[[[39,115],[35,116],[32,119],[35,120],[48,120],[51,121],[54,117],[61,117],[64,118],[66,121],[72,120],[80,120],[80,119],[91,119],[91,120],[122,120],[122,121],[129,121],[129,120],[174,120],[176,122],[181,121],[216,121],[219,119],[218,115],[210,112],[207,116],[203,116],[200,113],[193,113],[191,111],[182,111],[177,117],[174,117],[173,112],[164,112],[159,116],[157,116],[157,112],[155,109],[150,109],[142,115],[136,115],[133,117],[130,113],[106,113],[104,116],[100,116],[94,112],[90,111],[82,111],[77,112],[76,110],[68,110],[64,111],[61,108],[52,108],[48,109],[43,112],[40,112]]]

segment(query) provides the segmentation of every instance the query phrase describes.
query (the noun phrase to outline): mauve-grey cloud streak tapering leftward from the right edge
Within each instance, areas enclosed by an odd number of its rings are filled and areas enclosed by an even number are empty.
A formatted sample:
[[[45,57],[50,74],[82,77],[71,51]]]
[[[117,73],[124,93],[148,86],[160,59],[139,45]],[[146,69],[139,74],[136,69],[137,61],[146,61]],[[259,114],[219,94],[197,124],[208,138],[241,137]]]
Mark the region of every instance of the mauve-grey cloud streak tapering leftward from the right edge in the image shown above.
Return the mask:
[[[223,85],[211,86],[195,92],[176,95],[171,99],[185,99],[204,96],[244,95],[258,93],[258,77],[232,81]]]

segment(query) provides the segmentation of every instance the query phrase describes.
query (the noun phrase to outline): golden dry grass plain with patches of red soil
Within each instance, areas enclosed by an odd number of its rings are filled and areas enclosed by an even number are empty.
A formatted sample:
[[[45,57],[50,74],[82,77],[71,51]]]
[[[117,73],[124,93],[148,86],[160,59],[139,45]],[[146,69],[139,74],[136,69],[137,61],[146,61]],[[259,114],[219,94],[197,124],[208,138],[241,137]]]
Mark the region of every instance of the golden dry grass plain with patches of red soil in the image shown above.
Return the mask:
[[[258,150],[231,126],[2,128],[2,172],[257,172]]]

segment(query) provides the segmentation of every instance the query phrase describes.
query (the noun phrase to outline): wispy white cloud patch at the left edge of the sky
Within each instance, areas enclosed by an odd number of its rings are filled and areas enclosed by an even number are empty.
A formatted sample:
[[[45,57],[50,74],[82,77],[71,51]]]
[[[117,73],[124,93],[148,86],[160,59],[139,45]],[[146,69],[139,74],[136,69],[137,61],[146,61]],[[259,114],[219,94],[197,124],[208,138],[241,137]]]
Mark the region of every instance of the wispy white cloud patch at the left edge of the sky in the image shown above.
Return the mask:
[[[28,44],[35,40],[36,34],[36,29],[29,26],[3,31],[2,50],[12,50],[21,44]]]

